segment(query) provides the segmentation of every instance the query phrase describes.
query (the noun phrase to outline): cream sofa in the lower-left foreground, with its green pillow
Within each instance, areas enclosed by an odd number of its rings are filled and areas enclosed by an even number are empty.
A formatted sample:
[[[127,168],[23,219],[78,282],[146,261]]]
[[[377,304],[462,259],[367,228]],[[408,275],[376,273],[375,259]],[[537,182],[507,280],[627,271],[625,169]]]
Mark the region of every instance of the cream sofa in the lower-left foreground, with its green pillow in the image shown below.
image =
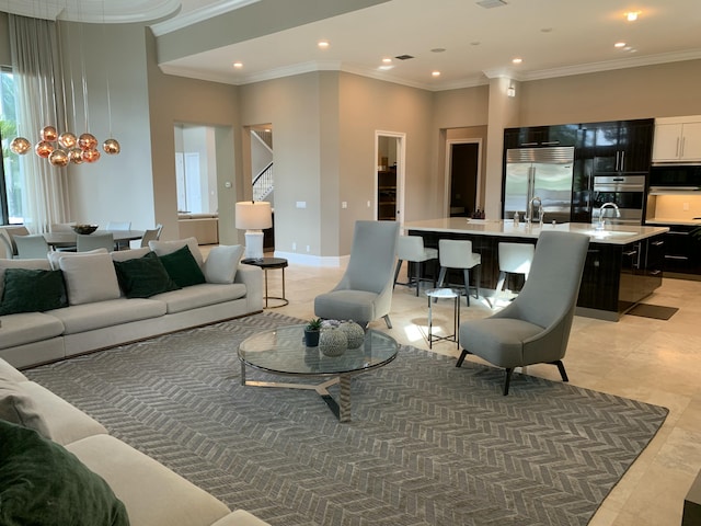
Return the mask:
[[[231,512],[3,359],[0,503],[8,524],[267,524],[243,510]]]

